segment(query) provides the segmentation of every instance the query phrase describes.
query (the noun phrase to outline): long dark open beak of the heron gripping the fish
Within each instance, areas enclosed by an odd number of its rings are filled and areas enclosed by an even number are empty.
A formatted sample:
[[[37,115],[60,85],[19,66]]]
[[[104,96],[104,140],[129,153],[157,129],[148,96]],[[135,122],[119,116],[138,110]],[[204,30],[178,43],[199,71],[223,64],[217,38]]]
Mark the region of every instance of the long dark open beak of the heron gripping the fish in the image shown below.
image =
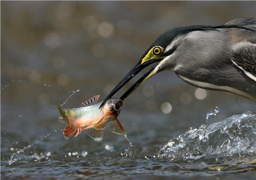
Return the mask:
[[[151,64],[155,64],[158,63],[159,61],[161,61],[161,59],[157,59],[157,60],[148,60],[144,63],[141,64],[141,60],[130,70],[130,72],[128,72],[124,78],[116,85],[116,87],[109,93],[108,96],[106,96],[106,98],[103,100],[102,104],[100,105],[99,108],[101,108],[105,102],[112,97],[118,90],[120,90],[126,83],[128,83],[136,74],[138,74],[142,69],[144,69],[145,67],[151,65]],[[153,67],[155,67],[156,65],[154,65]],[[148,71],[147,73],[145,73],[129,90],[127,90],[122,97],[126,98],[129,94],[131,94],[135,89],[136,89],[136,84],[138,82],[140,82],[139,84],[141,84],[142,82],[144,82],[143,80],[147,80],[148,78],[150,78],[150,72],[153,71],[154,68],[151,68],[150,71]],[[134,88],[135,87],[135,88]],[[122,99],[122,98],[121,98]]]

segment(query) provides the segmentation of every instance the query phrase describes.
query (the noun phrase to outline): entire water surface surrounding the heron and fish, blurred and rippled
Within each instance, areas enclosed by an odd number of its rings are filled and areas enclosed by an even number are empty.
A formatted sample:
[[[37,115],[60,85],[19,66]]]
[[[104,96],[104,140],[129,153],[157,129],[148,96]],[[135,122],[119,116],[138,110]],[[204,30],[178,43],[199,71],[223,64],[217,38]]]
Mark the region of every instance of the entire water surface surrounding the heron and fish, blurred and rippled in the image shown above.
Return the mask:
[[[1,2],[1,177],[253,179],[254,101],[161,72],[124,101],[132,147],[109,128],[101,142],[66,140],[57,104],[77,89],[64,108],[103,100],[170,28],[254,12],[255,2]]]

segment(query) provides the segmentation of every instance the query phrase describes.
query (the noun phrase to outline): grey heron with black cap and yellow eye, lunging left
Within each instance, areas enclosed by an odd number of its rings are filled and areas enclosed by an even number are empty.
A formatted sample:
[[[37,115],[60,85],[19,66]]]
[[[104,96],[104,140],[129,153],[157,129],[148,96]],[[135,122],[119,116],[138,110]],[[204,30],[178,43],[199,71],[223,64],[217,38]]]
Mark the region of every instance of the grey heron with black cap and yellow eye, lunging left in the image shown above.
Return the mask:
[[[163,70],[186,83],[256,100],[256,22],[237,18],[222,25],[190,25],[161,34],[101,106],[147,66],[150,69],[120,97]]]

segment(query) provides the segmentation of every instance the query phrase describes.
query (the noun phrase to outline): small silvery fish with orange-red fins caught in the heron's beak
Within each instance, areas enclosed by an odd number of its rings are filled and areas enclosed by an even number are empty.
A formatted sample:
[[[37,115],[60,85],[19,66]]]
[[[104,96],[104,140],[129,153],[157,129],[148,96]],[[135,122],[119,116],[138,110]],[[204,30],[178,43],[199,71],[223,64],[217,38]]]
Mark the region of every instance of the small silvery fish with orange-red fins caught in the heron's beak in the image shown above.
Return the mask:
[[[63,109],[58,105],[60,119],[65,121],[63,130],[65,138],[76,137],[83,130],[95,141],[101,141],[106,124],[110,122],[111,131],[126,137],[126,132],[117,119],[123,107],[123,101],[119,98],[110,98],[106,104],[99,109],[99,95],[82,102],[78,108]],[[126,137],[127,139],[127,137]]]

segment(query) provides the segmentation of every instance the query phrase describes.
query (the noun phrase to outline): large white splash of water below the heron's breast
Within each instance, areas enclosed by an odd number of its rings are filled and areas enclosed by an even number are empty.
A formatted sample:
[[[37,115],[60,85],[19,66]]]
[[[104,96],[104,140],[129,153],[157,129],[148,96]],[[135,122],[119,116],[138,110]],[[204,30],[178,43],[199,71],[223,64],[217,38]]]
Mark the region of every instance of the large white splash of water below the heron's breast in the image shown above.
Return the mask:
[[[158,157],[170,161],[212,159],[236,161],[256,154],[256,113],[245,112],[223,121],[191,128],[163,146]]]

